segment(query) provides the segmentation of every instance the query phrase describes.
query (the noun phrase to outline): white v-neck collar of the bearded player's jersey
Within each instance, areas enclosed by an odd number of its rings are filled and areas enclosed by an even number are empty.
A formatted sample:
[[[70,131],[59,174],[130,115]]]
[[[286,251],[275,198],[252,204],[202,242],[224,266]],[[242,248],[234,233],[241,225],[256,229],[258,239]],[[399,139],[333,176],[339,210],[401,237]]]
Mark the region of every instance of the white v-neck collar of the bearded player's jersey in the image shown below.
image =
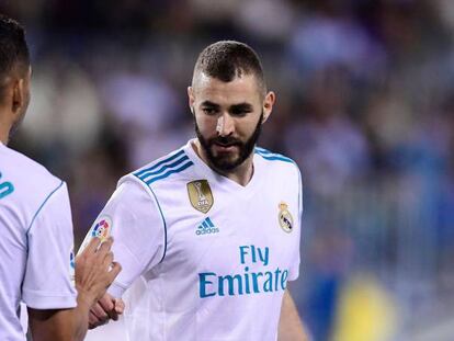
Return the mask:
[[[195,138],[190,139],[188,144],[183,147],[184,152],[188,155],[188,157],[191,159],[191,161],[194,163],[196,169],[200,171],[203,177],[207,178],[207,180],[212,180],[217,182],[223,187],[227,187],[231,191],[241,191],[241,192],[251,192],[258,186],[258,182],[260,179],[260,167],[258,167],[258,160],[257,156],[253,155],[253,173],[252,178],[249,180],[247,185],[241,185],[238,182],[222,175],[214,171],[212,168],[209,168],[208,164],[205,163],[201,159],[201,157],[195,152],[194,150],[194,143]]]

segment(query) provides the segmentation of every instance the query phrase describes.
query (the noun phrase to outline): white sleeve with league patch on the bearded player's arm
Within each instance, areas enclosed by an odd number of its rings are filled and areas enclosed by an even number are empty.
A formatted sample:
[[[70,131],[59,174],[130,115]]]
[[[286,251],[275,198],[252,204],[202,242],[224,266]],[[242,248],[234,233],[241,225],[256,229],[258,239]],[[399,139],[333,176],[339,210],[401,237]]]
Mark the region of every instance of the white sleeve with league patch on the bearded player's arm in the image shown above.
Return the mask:
[[[82,248],[93,236],[114,238],[112,250],[122,272],[109,288],[121,297],[126,288],[164,254],[163,220],[150,193],[133,180],[122,182],[86,237]],[[80,251],[79,251],[80,252]]]

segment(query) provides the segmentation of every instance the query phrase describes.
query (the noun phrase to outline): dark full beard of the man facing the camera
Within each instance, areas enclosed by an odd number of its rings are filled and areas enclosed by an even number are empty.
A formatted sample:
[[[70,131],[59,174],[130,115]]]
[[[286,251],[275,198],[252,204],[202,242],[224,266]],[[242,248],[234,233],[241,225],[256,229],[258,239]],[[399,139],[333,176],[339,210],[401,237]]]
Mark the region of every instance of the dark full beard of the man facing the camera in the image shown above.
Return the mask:
[[[197,135],[202,149],[204,150],[211,166],[223,172],[231,172],[238,166],[245,162],[245,160],[248,159],[252,154],[253,148],[256,147],[256,144],[260,137],[262,130],[262,121],[263,111],[260,115],[260,120],[257,123],[256,129],[253,130],[252,135],[246,141],[242,141],[238,138],[230,136],[217,136],[207,139],[202,135],[197,125],[197,121],[194,118],[195,134]],[[216,144],[219,144],[222,146],[236,146],[238,148],[238,152],[236,152],[235,155],[215,155],[213,151],[213,146]]]

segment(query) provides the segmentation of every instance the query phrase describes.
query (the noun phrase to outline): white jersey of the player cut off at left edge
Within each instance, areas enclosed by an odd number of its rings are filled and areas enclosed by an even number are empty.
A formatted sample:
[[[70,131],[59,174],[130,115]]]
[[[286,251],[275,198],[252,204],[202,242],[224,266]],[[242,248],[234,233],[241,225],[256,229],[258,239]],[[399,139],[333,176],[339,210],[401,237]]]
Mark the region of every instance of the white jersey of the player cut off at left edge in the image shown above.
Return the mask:
[[[72,219],[66,184],[0,144],[0,340],[25,340],[20,302],[76,306]]]

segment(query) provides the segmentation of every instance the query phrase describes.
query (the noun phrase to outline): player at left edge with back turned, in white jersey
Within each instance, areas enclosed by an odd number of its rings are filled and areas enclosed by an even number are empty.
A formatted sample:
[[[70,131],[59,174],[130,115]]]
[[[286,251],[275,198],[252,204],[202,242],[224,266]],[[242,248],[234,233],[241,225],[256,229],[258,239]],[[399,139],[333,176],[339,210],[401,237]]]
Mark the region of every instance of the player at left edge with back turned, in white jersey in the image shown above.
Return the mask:
[[[82,340],[90,307],[120,268],[109,271],[112,241],[100,239],[75,260],[66,184],[5,146],[25,115],[30,78],[24,31],[0,15],[0,340],[25,340],[21,302],[34,341]]]

